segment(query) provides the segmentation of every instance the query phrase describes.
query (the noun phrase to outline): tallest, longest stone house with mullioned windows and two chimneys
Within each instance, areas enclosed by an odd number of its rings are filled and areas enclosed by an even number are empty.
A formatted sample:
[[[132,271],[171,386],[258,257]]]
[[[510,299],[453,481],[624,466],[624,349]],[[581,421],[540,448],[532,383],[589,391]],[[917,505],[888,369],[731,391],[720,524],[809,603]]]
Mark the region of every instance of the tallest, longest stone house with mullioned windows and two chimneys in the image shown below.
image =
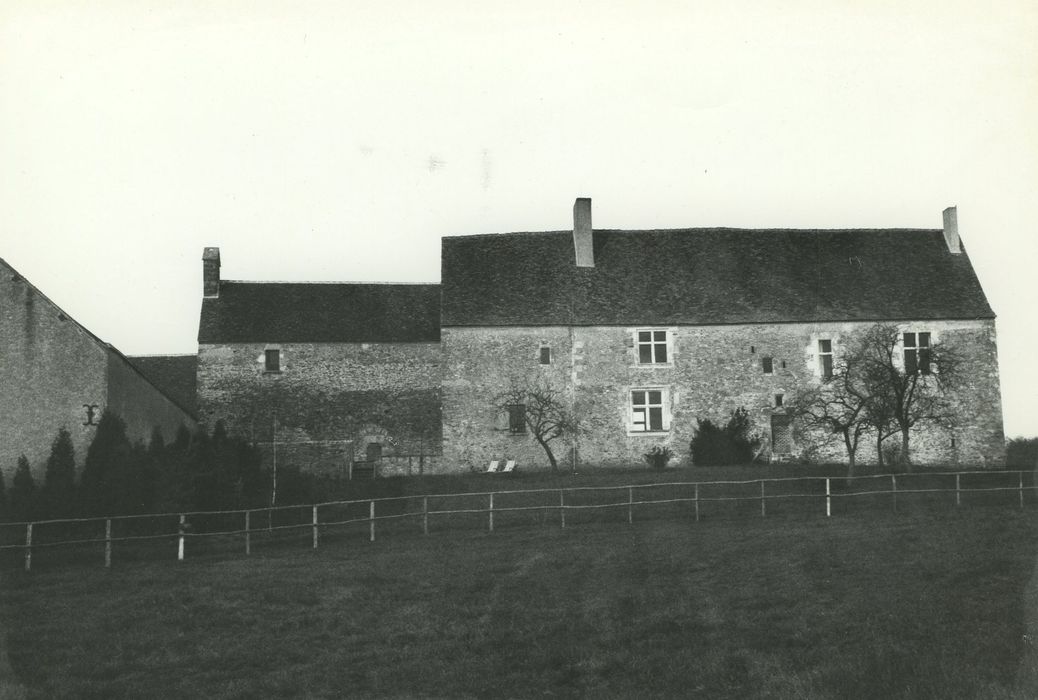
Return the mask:
[[[941,343],[968,368],[954,427],[917,431],[913,461],[1001,463],[994,315],[954,208],[943,230],[606,231],[577,199],[573,231],[445,238],[444,468],[547,465],[496,408],[516,382],[577,409],[586,432],[556,450],[575,463],[638,464],[654,446],[687,458],[696,419],[739,407],[762,457],[845,461],[842,445],[798,439],[785,406],[876,323],[901,328],[902,357]]]

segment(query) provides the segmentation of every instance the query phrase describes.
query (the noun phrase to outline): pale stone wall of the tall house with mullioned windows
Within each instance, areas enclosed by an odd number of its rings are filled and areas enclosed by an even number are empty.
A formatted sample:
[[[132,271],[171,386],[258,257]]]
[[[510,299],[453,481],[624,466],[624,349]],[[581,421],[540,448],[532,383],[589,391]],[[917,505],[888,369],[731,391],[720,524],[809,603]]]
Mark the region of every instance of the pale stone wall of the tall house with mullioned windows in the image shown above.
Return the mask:
[[[494,397],[514,379],[542,380],[564,391],[577,408],[585,433],[554,450],[564,464],[624,466],[641,464],[654,446],[670,447],[687,459],[696,419],[723,425],[744,407],[762,437],[761,458],[771,458],[771,416],[782,414],[775,396],[791,402],[798,387],[819,381],[818,341],[836,352],[841,338],[871,324],[759,324],[680,326],[666,330],[668,362],[637,361],[636,327],[444,328],[443,468],[484,468],[491,459],[515,458],[528,468],[548,462],[526,434],[512,434]],[[917,463],[994,465],[1004,459],[1002,405],[994,326],[991,321],[925,321],[901,324],[929,331],[933,342],[953,347],[965,360],[965,380],[953,393],[954,430],[916,431]],[[548,346],[551,365],[539,364]],[[763,359],[771,358],[766,374]],[[632,389],[660,391],[665,430],[636,432],[631,426]],[[846,461],[842,441],[796,434],[792,459]],[[954,447],[953,438],[954,437]],[[894,438],[892,438],[893,440]],[[875,458],[871,441],[862,445],[863,461]],[[889,440],[890,442],[891,440]]]

